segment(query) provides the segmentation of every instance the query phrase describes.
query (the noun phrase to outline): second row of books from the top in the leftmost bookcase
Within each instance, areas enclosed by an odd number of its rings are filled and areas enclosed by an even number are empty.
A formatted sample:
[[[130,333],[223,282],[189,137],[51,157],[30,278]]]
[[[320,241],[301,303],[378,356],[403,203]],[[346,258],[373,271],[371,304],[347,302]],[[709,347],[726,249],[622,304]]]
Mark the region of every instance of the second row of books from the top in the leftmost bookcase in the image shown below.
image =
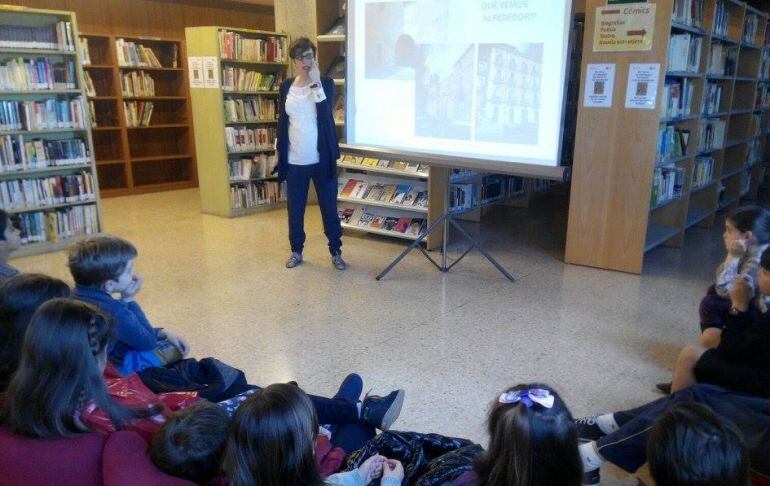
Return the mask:
[[[77,88],[73,61],[9,59],[0,64],[0,90],[38,91]]]

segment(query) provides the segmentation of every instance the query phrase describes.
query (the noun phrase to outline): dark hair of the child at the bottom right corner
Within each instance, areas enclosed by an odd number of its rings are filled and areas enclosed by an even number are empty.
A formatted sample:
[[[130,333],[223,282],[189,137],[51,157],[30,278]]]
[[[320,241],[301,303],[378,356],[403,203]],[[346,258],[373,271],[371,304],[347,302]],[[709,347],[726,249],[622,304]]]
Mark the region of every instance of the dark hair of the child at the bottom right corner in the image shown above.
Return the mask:
[[[741,433],[698,403],[678,403],[658,418],[647,441],[647,462],[655,484],[749,484],[749,455]]]

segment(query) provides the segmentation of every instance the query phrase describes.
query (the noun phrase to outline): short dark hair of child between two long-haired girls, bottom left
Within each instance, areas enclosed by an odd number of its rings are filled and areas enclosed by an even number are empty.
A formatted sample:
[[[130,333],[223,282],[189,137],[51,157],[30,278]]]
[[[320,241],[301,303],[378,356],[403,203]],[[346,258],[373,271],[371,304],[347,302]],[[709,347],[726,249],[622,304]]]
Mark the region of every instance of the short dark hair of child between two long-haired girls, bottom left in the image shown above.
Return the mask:
[[[220,473],[228,419],[225,409],[206,401],[176,412],[152,438],[152,462],[172,476],[211,481]]]

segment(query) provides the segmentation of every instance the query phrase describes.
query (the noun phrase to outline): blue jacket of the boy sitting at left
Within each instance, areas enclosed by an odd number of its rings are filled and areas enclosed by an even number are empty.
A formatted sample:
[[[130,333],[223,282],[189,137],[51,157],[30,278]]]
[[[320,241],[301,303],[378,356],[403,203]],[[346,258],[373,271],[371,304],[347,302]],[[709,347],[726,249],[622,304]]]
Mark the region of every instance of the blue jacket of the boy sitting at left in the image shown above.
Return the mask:
[[[95,305],[112,318],[112,340],[107,348],[110,359],[122,362],[127,351],[152,351],[157,347],[158,331],[136,302],[124,302],[102,289],[85,285],[76,285],[72,296]]]

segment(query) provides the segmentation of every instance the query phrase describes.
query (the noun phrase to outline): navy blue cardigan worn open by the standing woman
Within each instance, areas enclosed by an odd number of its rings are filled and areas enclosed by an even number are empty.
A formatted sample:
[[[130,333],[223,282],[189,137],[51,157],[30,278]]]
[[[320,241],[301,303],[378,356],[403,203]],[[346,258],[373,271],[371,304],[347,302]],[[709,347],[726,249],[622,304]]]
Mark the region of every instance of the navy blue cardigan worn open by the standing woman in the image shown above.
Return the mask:
[[[289,171],[289,115],[286,114],[286,95],[294,82],[289,78],[281,83],[278,99],[278,180],[286,179]],[[318,117],[318,154],[320,163],[328,168],[330,178],[337,177],[337,159],[340,158],[340,146],[337,143],[337,129],[334,125],[332,103],[334,103],[334,81],[325,76],[321,77],[326,99],[316,103]]]

